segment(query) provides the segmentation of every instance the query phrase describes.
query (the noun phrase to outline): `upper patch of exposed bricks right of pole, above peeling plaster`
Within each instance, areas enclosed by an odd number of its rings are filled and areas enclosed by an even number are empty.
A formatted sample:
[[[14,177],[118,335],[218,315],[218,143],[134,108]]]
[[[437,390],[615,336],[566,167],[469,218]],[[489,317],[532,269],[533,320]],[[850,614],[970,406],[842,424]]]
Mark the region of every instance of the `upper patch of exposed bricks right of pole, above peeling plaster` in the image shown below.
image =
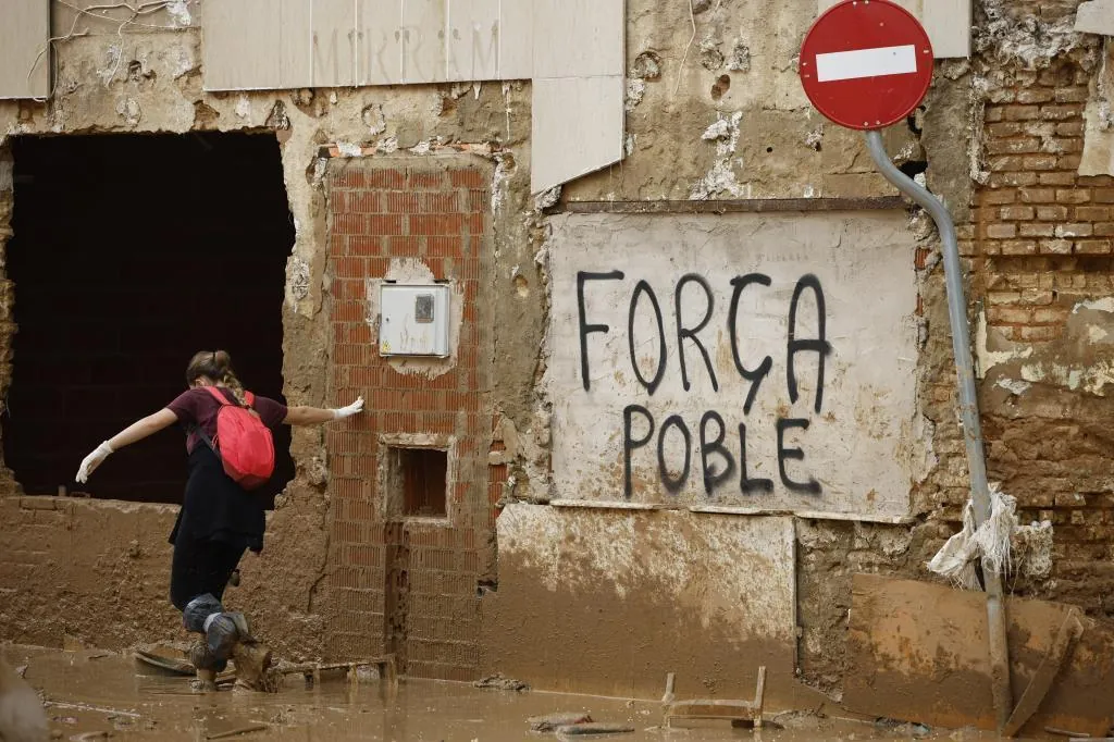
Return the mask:
[[[1079,176],[1091,74],[1068,59],[1016,74],[986,107],[989,179],[961,251],[976,258],[987,321],[1010,340],[1061,333],[1069,301],[1111,289],[1114,178]]]

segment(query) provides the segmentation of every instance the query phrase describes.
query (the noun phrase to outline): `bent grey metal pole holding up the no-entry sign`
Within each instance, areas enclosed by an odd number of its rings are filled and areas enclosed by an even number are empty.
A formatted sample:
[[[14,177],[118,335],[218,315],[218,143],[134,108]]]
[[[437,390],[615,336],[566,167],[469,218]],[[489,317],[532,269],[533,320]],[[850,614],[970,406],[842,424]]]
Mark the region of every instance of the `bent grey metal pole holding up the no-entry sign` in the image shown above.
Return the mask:
[[[956,354],[956,374],[959,377],[959,411],[962,418],[964,441],[967,445],[967,469],[970,473],[971,502],[975,518],[983,524],[990,517],[990,490],[986,481],[986,459],[983,451],[983,428],[979,423],[978,398],[975,392],[975,368],[971,361],[970,333],[967,329],[967,300],[964,295],[964,276],[959,265],[956,227],[947,207],[928,189],[893,166],[882,136],[867,131],[867,147],[878,169],[887,180],[925,208],[940,231],[944,252],[944,275],[948,289],[948,318],[951,320],[951,349]],[[994,711],[1001,732],[1013,711],[1009,689],[1009,647],[1006,644],[1006,604],[1001,596],[1001,576],[984,568],[986,582],[986,617],[990,644],[990,677]]]

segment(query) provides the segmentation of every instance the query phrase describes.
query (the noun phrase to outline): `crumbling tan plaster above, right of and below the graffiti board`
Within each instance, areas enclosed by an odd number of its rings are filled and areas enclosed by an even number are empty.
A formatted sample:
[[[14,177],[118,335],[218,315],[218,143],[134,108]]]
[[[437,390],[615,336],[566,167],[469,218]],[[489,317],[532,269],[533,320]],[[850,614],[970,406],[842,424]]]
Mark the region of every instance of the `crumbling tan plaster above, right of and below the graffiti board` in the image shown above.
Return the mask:
[[[712,0],[693,8],[693,16],[686,3],[628,10],[628,156],[567,185],[567,201],[896,194],[877,175],[862,136],[827,123],[800,88],[795,57],[813,2]],[[968,219],[973,192],[962,141],[974,107],[966,68],[945,67],[911,121],[883,133],[899,165],[928,160],[927,183],[959,223]],[[846,667],[851,575],[929,578],[925,562],[952,533],[931,514],[941,492],[966,496],[936,232],[922,215],[909,228],[918,245],[909,264],[920,294],[916,383],[929,472],[911,487],[912,525],[797,520],[798,664],[804,682],[828,691],[838,691]]]

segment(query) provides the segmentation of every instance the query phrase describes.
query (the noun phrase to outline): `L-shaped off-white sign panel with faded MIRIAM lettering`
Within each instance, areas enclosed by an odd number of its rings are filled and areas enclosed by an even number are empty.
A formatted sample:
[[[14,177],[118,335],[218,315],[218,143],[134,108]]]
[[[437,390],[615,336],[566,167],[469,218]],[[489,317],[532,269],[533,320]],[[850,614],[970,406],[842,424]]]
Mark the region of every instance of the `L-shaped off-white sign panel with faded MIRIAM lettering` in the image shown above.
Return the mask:
[[[206,0],[203,10],[207,90],[531,78],[535,193],[623,158],[624,0]]]

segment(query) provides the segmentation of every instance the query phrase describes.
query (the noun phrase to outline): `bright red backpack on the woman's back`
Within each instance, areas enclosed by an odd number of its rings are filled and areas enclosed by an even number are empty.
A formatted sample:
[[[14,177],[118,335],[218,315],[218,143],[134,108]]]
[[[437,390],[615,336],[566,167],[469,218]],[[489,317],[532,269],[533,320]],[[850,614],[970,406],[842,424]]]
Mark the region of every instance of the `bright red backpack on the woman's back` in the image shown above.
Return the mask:
[[[216,387],[205,387],[218,402],[216,438],[208,439],[198,432],[224,465],[224,472],[244,489],[262,487],[275,470],[275,445],[260,416],[251,408],[255,404],[252,392],[244,393],[246,407],[229,402]]]

